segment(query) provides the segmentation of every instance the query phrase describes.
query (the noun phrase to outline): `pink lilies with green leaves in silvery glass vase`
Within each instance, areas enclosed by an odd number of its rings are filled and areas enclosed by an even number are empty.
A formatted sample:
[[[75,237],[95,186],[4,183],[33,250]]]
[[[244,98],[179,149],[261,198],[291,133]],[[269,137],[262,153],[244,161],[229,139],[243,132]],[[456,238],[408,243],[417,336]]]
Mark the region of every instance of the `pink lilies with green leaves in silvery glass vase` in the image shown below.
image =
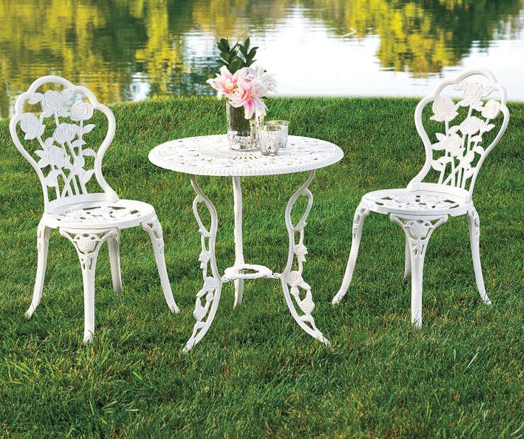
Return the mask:
[[[277,82],[260,66],[252,67],[257,47],[250,48],[250,38],[232,47],[222,38],[217,48],[220,73],[207,83],[215,88],[219,99],[227,99],[227,138],[235,148],[255,148],[257,127],[267,110],[263,98],[277,90]]]

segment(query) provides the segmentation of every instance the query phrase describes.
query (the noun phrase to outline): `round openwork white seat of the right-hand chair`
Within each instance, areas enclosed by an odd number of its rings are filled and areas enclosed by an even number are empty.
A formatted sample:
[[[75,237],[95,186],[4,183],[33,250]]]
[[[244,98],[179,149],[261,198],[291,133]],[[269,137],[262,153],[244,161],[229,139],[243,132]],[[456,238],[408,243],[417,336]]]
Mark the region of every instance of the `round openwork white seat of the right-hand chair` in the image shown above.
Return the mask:
[[[471,202],[458,195],[428,190],[385,189],[368,192],[362,202],[371,210],[384,214],[464,215]]]

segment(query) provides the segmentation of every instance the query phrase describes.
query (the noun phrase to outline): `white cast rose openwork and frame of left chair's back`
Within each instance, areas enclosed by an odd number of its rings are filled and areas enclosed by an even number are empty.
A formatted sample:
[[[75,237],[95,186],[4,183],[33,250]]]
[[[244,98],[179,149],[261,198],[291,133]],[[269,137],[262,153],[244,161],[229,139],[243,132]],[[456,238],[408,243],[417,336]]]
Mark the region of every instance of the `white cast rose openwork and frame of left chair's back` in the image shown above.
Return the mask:
[[[36,91],[48,83],[64,88],[43,93]],[[113,138],[114,119],[111,111],[99,104],[91,91],[74,86],[63,78],[41,78],[40,83],[23,96],[17,104],[19,114],[14,118],[13,129],[19,140],[17,147],[25,152],[24,156],[38,172],[46,203],[50,201],[48,188],[54,192],[56,199],[89,193],[88,182],[93,179],[93,175],[97,175],[96,167],[101,166],[103,152]],[[78,101],[79,98],[82,101]],[[25,103],[39,105],[40,108],[37,108],[36,113],[25,113]],[[95,128],[88,121],[96,109],[106,113],[110,121],[108,135],[98,155],[93,148],[86,148],[85,140],[86,135]],[[17,123],[24,133],[23,138],[16,133]],[[103,180],[101,172],[98,175],[96,180],[103,192],[113,192]]]

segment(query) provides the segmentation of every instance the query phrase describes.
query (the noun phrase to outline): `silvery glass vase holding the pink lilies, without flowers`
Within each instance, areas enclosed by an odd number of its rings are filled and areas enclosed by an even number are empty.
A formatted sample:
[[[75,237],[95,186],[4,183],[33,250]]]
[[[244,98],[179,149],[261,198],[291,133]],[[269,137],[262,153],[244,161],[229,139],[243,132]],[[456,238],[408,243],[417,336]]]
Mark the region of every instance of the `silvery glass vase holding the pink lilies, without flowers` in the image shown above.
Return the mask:
[[[264,125],[264,115],[255,112],[250,119],[244,117],[244,107],[235,108],[226,103],[227,139],[234,150],[256,150],[257,128]]]

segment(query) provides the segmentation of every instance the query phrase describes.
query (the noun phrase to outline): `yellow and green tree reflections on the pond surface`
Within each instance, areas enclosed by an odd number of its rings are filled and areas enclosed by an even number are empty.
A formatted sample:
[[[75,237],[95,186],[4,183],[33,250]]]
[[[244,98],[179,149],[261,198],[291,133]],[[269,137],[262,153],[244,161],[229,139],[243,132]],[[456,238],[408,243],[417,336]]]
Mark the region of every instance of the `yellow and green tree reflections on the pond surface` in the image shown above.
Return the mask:
[[[263,39],[297,11],[334,36],[378,35],[381,68],[424,76],[520,31],[520,9],[520,0],[0,0],[0,116],[48,73],[108,103],[135,98],[137,74],[145,95],[210,94],[215,38]]]

